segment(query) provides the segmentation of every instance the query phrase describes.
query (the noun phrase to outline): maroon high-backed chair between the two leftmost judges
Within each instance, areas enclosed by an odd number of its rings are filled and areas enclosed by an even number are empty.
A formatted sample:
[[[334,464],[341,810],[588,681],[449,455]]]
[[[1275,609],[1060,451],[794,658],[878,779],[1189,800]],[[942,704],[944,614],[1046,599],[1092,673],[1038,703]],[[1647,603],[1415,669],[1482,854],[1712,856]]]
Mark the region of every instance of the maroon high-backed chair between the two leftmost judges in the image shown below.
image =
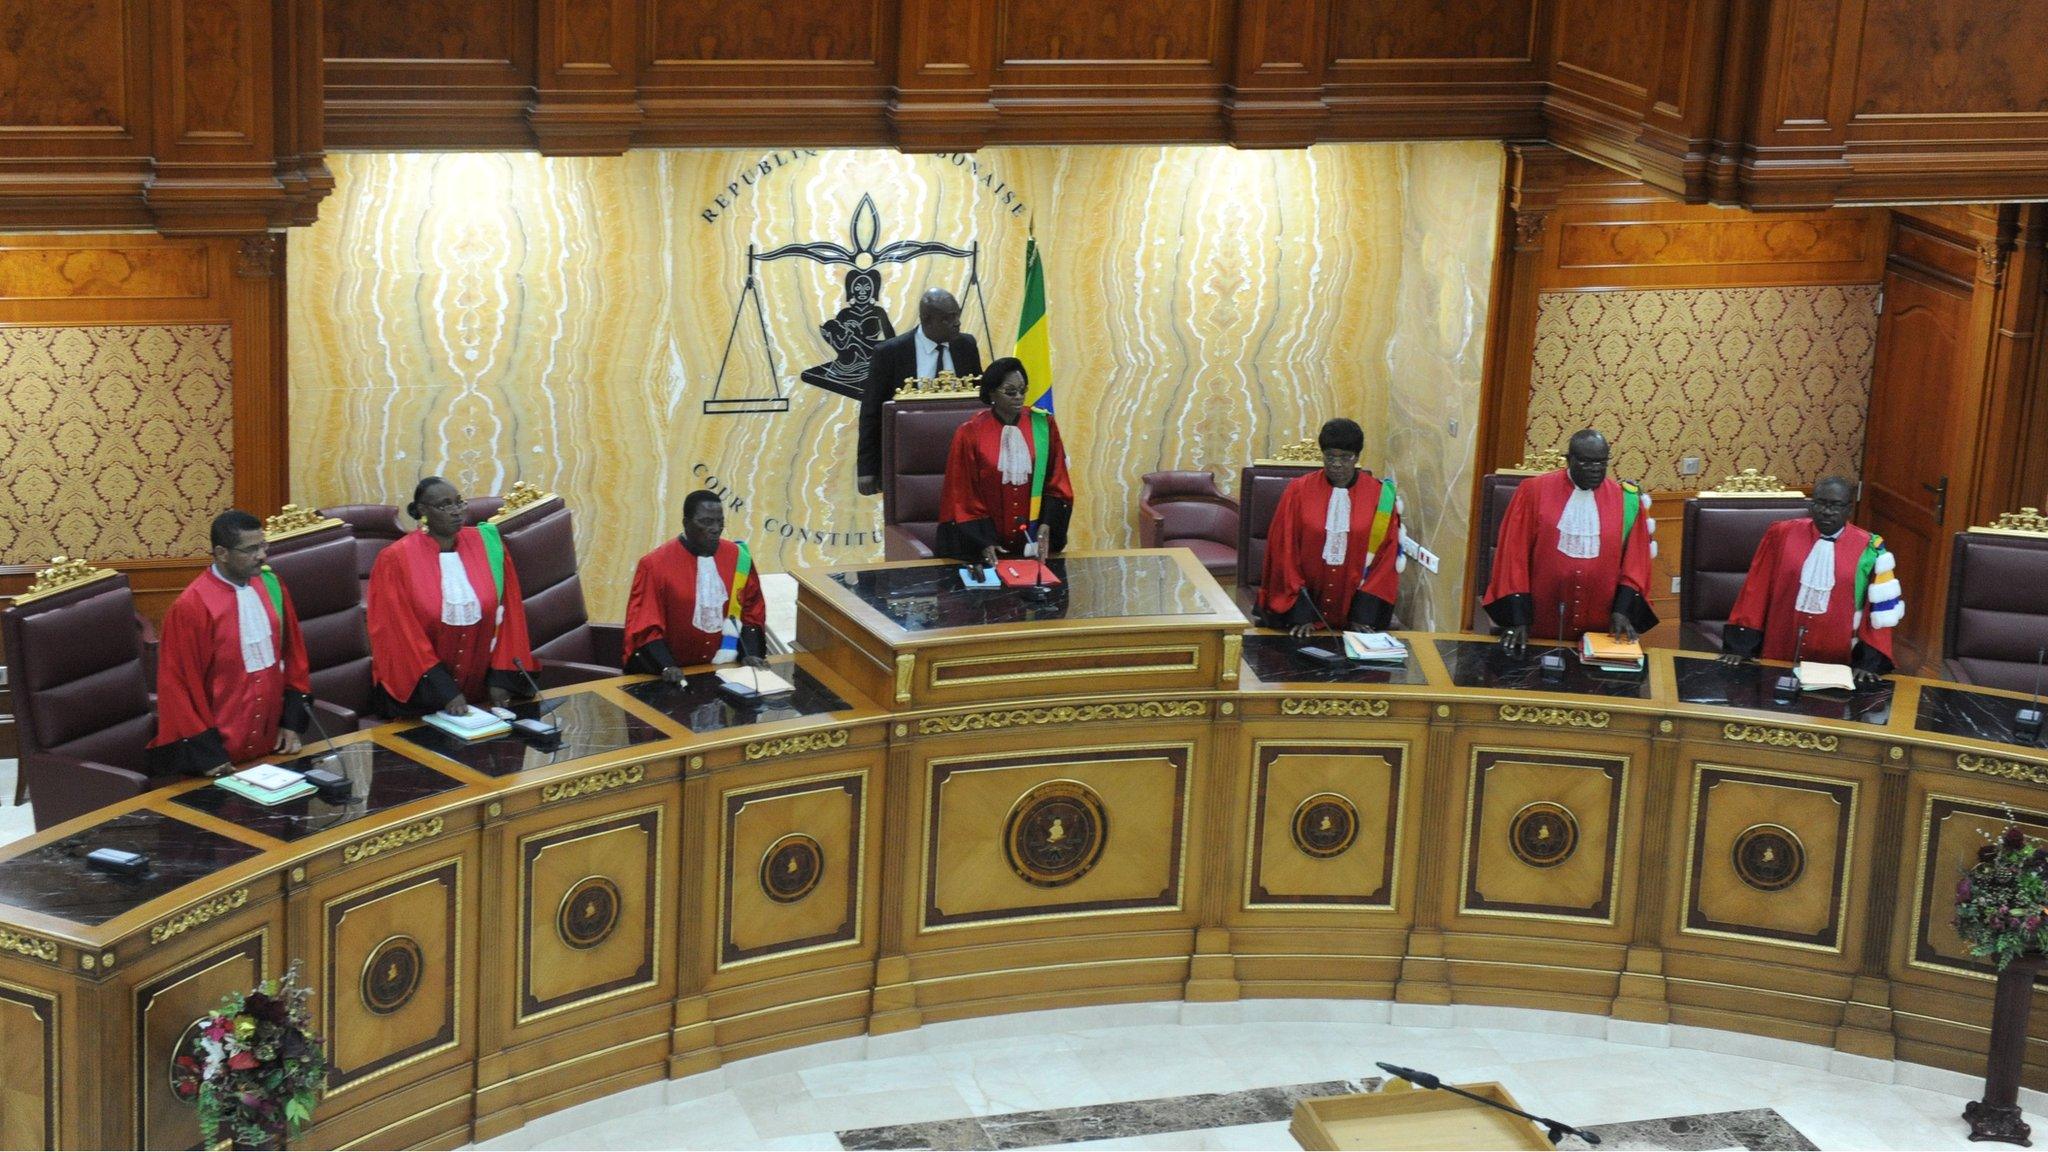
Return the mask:
[[[356,580],[356,537],[338,519],[297,504],[264,521],[270,570],[291,592],[305,637],[305,662],[328,736],[377,724],[371,709],[371,633]],[[307,732],[317,740],[322,730]]]

